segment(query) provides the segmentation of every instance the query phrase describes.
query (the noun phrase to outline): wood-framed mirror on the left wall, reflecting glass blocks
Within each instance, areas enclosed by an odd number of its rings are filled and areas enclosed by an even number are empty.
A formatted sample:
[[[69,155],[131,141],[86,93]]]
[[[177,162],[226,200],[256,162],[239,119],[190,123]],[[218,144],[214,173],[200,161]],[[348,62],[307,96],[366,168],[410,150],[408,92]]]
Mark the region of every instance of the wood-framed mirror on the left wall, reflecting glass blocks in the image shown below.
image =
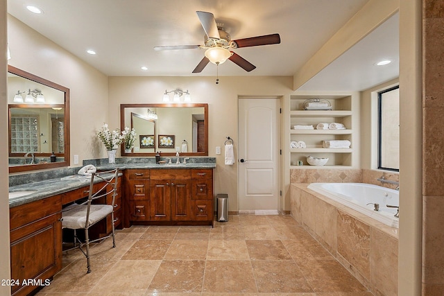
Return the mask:
[[[69,166],[69,89],[8,65],[8,147],[9,173]]]

